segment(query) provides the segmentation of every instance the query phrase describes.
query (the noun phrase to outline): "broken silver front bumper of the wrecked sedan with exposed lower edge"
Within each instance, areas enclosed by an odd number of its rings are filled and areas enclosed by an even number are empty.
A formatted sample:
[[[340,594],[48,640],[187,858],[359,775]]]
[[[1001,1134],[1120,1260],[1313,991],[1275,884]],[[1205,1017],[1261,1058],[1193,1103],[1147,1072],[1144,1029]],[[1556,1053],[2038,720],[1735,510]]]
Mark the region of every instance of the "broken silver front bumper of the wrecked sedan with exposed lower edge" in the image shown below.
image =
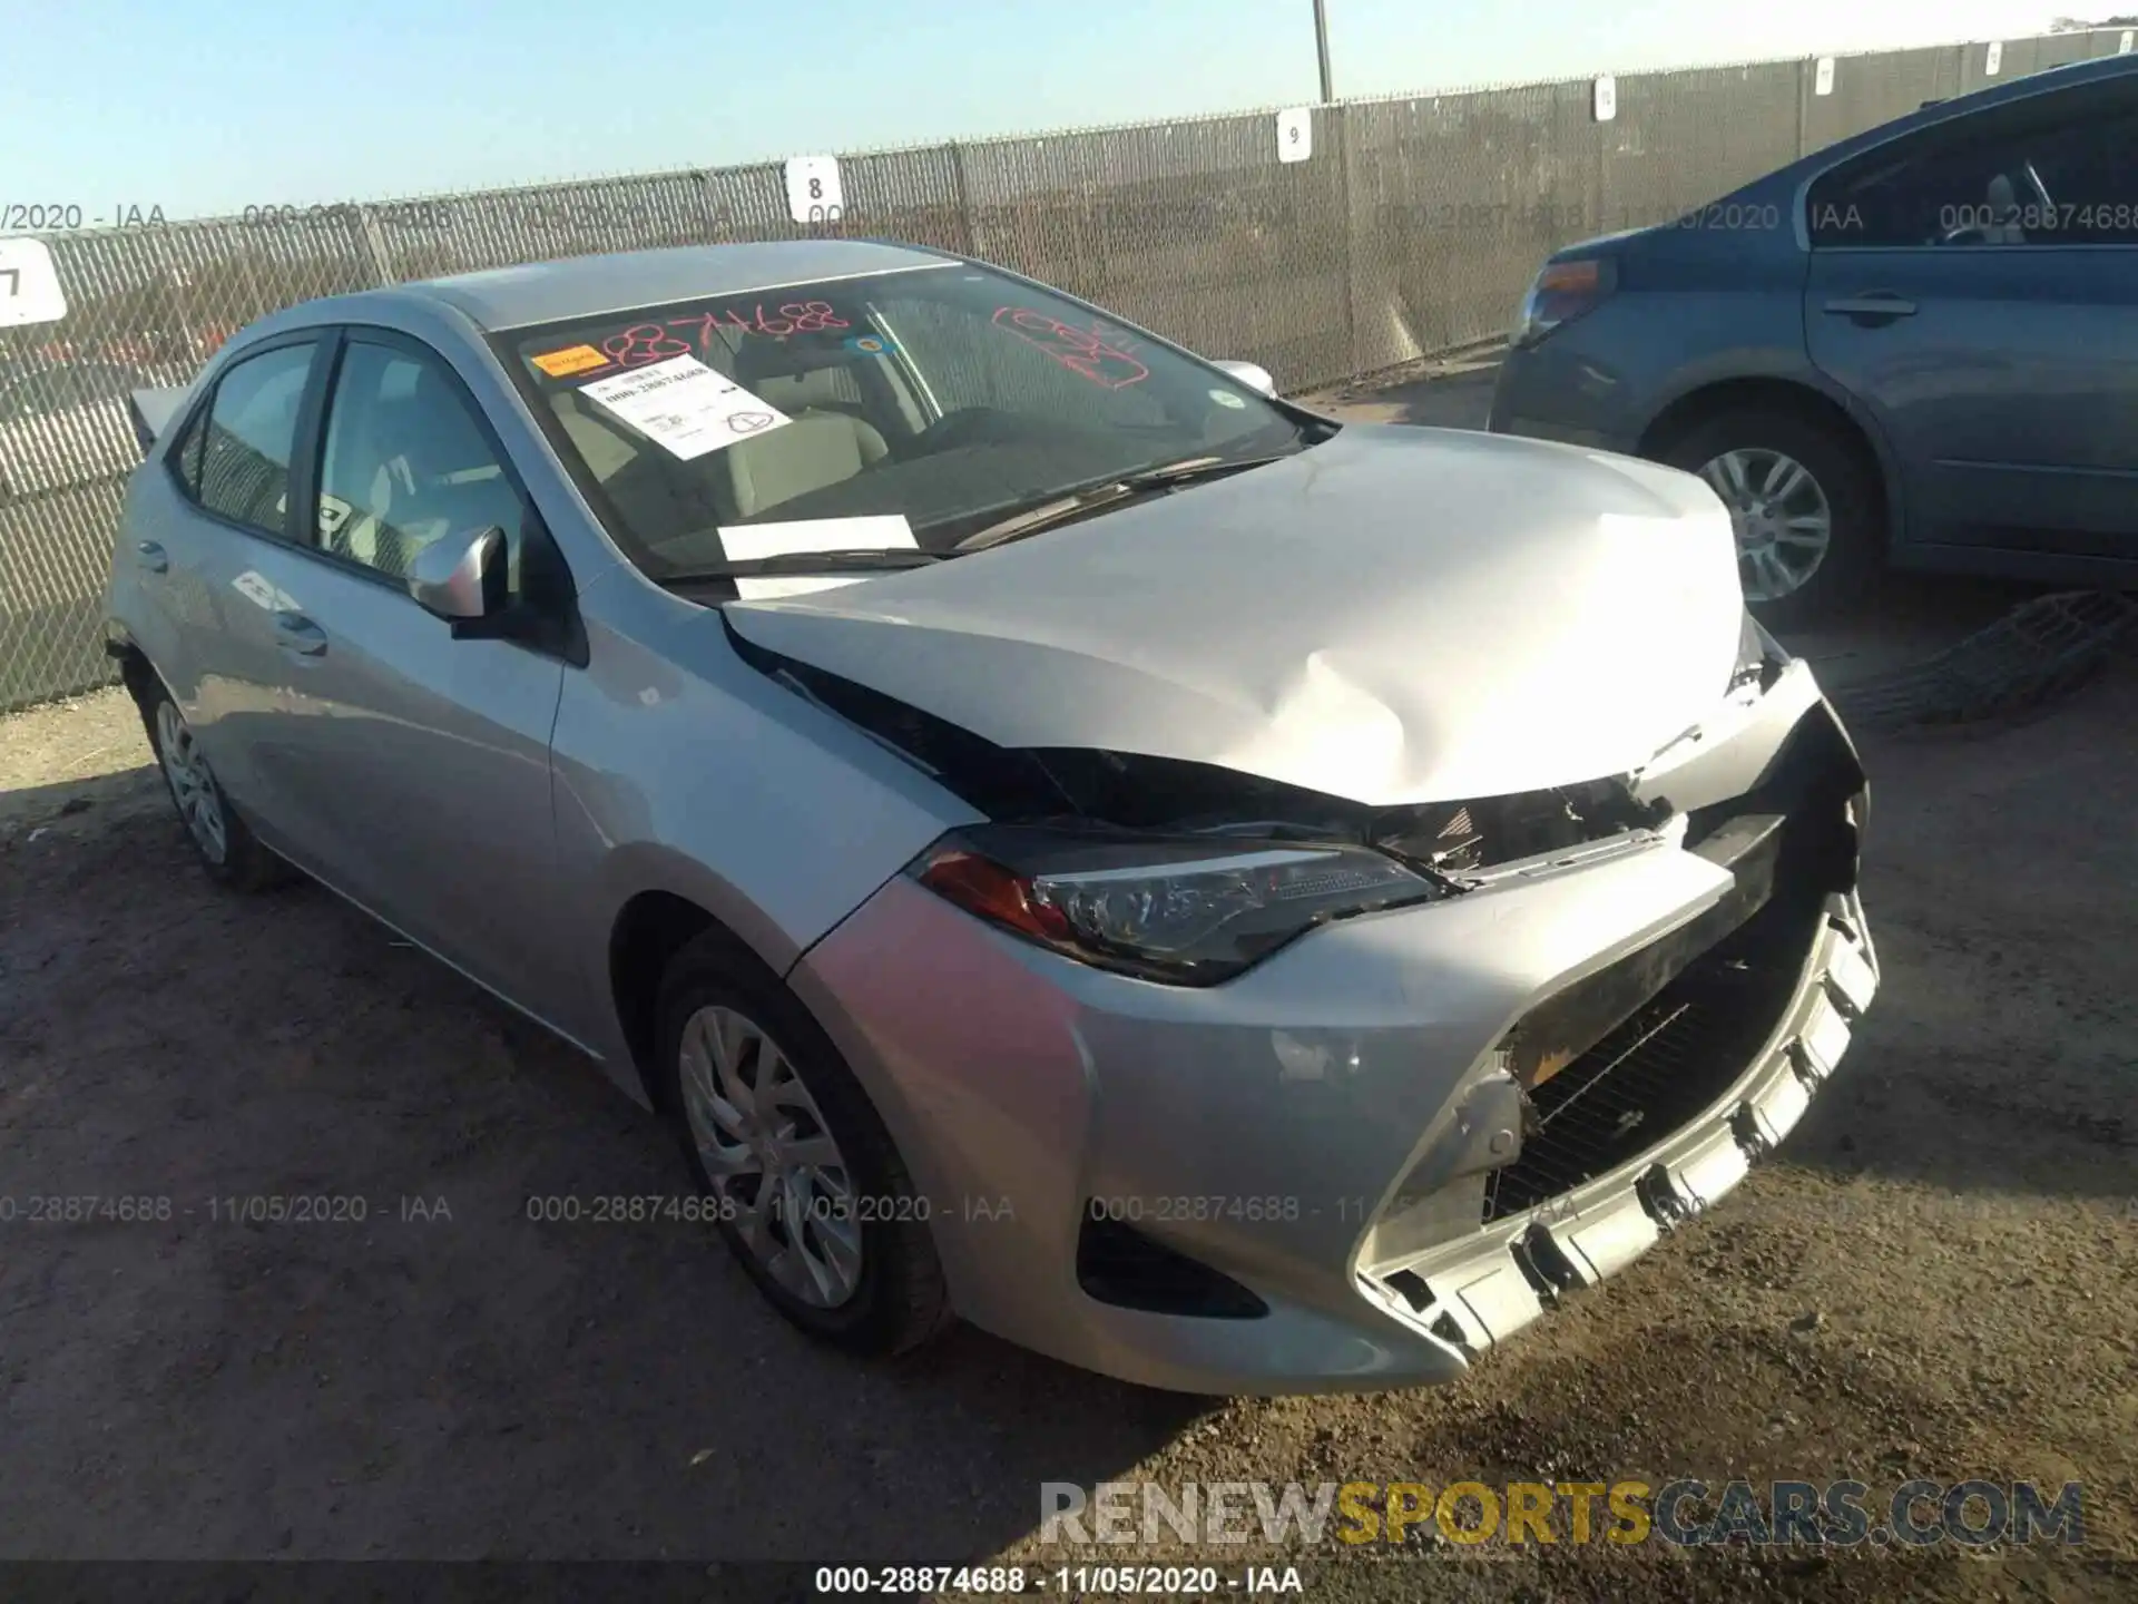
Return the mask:
[[[1680,954],[1738,885],[1689,830],[1819,764],[1852,774],[1792,804],[1819,823],[1792,815],[1772,896]],[[1860,770],[1802,665],[1653,785],[1676,830],[1326,926],[1214,988],[1075,965],[902,877],[791,984],[973,1324],[1195,1392],[1445,1382],[1734,1187],[1877,988]],[[1659,952],[1683,962],[1633,1016],[1509,1076],[1524,1029]]]

